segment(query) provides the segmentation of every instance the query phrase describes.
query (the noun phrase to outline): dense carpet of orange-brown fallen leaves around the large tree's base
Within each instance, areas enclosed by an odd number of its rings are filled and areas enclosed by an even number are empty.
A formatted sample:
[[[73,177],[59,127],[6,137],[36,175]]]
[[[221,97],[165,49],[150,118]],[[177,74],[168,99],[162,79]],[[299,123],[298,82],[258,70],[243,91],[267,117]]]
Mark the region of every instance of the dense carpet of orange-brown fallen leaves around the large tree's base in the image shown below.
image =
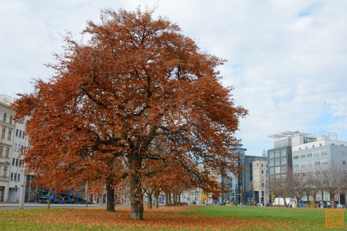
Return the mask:
[[[129,207],[117,207],[116,212],[106,212],[105,208],[70,209],[66,213],[38,214],[37,220],[46,222],[84,223],[89,227],[103,225],[106,227],[124,228],[169,228],[169,229],[243,229],[256,227],[267,229],[274,223],[261,219],[230,218],[230,217],[202,217],[189,216],[182,213],[188,207],[160,207],[146,209],[144,220],[130,220]],[[286,225],[285,222],[279,225]]]

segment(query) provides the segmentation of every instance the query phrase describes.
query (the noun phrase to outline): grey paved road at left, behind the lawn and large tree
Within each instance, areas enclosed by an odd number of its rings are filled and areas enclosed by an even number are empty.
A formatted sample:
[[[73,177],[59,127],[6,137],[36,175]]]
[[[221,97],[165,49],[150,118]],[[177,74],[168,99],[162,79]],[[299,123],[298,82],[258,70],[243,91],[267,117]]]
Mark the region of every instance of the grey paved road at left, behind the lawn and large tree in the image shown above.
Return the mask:
[[[18,209],[19,203],[0,203],[0,209]],[[47,208],[47,204],[41,203],[24,203],[24,208]],[[51,208],[80,208],[86,207],[85,204],[51,204]],[[88,207],[106,207],[106,204],[89,204]]]

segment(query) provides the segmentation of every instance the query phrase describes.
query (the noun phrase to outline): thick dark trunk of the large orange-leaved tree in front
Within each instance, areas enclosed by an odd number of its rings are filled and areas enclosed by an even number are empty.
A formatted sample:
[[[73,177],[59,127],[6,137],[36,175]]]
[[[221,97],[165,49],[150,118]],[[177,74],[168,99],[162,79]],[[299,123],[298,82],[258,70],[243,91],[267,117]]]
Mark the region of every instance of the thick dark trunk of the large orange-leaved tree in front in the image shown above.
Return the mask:
[[[139,155],[128,156],[130,170],[131,220],[143,220],[143,193],[140,178],[142,158]]]

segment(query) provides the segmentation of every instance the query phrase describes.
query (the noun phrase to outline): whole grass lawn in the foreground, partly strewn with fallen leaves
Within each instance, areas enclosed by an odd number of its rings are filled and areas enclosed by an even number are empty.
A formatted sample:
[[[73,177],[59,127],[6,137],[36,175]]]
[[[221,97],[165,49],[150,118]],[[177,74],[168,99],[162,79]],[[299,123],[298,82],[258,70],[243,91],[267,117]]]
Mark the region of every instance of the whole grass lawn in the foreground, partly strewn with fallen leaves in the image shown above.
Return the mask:
[[[325,210],[248,206],[241,209],[238,206],[218,205],[160,206],[158,209],[146,208],[144,221],[132,221],[129,220],[129,207],[118,207],[115,213],[106,212],[105,208],[11,209],[0,210],[0,230],[347,230],[346,214],[343,228],[325,228]],[[224,226],[218,226],[221,222]],[[235,225],[237,222],[243,222],[244,226]]]

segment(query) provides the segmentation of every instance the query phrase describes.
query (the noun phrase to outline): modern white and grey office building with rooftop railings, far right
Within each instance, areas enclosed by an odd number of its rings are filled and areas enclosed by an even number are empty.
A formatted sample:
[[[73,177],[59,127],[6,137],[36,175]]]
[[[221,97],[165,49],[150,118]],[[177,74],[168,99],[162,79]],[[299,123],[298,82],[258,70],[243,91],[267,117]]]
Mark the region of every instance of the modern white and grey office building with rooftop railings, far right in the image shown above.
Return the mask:
[[[286,178],[287,169],[299,176],[315,175],[319,178],[326,166],[346,168],[347,142],[337,141],[336,133],[317,132],[313,134],[283,132],[270,136],[274,149],[269,154],[269,181]],[[287,156],[287,159],[283,158]],[[286,164],[286,165],[285,165]],[[284,171],[282,171],[284,170]],[[324,170],[325,171],[325,170]],[[336,196],[334,198],[336,200]],[[316,200],[330,200],[330,195],[322,191]],[[341,203],[345,202],[342,195]]]

